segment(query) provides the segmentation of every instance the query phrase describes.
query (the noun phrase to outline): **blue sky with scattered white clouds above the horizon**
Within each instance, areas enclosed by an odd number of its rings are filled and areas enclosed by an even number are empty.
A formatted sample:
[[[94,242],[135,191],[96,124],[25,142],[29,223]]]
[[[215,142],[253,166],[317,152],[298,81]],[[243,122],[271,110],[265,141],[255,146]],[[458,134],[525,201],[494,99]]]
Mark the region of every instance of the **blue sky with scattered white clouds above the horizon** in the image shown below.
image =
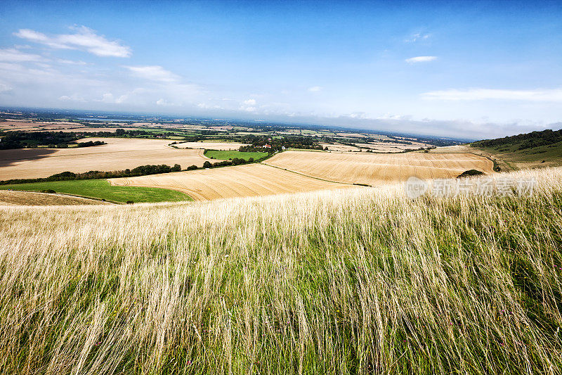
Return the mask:
[[[562,1],[0,3],[0,106],[492,138],[562,127]]]

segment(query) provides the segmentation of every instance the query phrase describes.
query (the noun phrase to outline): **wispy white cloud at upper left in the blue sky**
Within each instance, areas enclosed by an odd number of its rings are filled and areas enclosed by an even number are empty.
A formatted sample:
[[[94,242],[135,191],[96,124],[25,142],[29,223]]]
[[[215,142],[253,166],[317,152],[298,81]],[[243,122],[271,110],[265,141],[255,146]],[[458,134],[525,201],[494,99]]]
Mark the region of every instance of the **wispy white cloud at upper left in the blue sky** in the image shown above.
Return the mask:
[[[103,35],[98,35],[89,27],[74,28],[74,34],[58,34],[52,37],[30,29],[20,29],[15,32],[16,37],[27,39],[30,42],[44,44],[54,49],[78,49],[93,53],[96,56],[129,57],[131,47],[125,46],[117,40],[107,40]]]

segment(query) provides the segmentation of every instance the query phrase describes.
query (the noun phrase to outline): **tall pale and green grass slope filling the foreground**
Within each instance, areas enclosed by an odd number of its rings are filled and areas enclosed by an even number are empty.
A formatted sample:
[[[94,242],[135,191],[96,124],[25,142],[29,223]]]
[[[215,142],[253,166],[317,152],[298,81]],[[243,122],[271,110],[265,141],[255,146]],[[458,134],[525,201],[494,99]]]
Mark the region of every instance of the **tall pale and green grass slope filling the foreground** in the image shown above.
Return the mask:
[[[560,374],[562,168],[525,176],[0,208],[0,373]]]

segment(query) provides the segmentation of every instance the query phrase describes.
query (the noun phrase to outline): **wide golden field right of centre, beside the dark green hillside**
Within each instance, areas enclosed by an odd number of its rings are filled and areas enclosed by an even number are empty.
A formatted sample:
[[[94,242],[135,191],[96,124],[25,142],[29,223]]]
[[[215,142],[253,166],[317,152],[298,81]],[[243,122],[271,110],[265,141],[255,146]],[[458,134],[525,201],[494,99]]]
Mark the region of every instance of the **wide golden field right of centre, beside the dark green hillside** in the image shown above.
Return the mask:
[[[492,173],[491,160],[471,153],[318,153],[285,151],[264,163],[307,176],[349,184],[453,178],[466,170]]]

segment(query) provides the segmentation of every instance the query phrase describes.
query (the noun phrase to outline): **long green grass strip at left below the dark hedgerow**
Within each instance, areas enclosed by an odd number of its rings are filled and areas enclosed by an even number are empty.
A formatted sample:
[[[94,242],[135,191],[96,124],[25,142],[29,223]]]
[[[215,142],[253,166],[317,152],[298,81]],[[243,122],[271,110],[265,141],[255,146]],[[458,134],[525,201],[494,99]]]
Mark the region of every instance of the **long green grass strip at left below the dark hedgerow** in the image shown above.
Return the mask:
[[[0,185],[0,192],[6,189],[24,191],[54,190],[57,193],[72,194],[87,198],[105,199],[119,203],[133,201],[164,202],[189,201],[190,197],[179,191],[157,187],[112,186],[105,179],[81,179],[74,181],[33,182],[31,184]]]

